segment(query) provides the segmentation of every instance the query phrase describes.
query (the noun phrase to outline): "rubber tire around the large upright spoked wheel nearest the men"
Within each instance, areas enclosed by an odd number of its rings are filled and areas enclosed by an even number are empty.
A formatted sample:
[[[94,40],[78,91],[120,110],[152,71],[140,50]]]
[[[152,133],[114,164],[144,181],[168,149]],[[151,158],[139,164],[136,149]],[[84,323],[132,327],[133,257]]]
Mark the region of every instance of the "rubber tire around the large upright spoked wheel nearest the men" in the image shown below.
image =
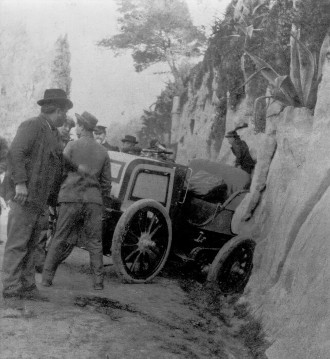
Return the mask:
[[[168,230],[169,238],[168,238],[168,245],[167,245],[165,255],[162,259],[162,262],[158,265],[158,268],[156,269],[156,271],[154,273],[152,273],[152,275],[150,275],[146,279],[137,279],[137,278],[132,277],[129,273],[127,273],[127,271],[125,269],[125,264],[123,263],[122,257],[121,257],[121,242],[122,242],[121,239],[122,239],[123,232],[125,232],[125,228],[126,228],[128,222],[130,221],[130,219],[140,209],[143,209],[144,207],[154,207],[157,210],[159,210],[159,212],[161,212],[161,214],[164,216],[166,223],[167,223],[167,230]],[[160,203],[158,203],[157,201],[152,200],[152,199],[141,199],[139,201],[136,201],[121,215],[121,217],[119,218],[119,221],[116,225],[114,234],[113,234],[111,253],[112,253],[112,261],[113,261],[114,268],[115,268],[117,275],[125,283],[147,283],[147,282],[150,282],[163,269],[163,267],[167,261],[168,255],[170,253],[171,244],[172,244],[172,223],[171,223],[170,217],[169,217],[168,213],[166,212],[165,208]]]

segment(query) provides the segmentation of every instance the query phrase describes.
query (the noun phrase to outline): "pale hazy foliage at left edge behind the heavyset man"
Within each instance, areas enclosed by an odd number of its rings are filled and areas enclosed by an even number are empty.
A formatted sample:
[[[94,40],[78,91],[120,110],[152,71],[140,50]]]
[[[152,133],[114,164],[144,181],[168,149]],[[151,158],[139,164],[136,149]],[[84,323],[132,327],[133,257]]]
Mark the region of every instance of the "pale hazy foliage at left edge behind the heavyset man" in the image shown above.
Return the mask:
[[[18,125],[36,115],[36,102],[49,84],[50,59],[44,48],[41,55],[33,46],[23,24],[0,27],[1,136],[9,142]]]

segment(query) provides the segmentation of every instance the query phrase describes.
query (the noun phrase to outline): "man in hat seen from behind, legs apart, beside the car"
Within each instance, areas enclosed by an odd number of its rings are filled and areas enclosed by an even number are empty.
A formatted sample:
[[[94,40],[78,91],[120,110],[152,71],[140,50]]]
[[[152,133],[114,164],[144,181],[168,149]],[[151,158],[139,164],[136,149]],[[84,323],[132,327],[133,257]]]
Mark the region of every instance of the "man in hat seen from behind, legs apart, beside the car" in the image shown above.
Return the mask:
[[[102,290],[102,204],[111,191],[110,159],[93,136],[98,120],[88,112],[76,117],[79,139],[69,142],[63,154],[78,166],[78,171],[68,171],[61,185],[56,232],[48,249],[41,284],[52,285],[57,267],[72,252],[78,237],[84,235],[93,287]]]

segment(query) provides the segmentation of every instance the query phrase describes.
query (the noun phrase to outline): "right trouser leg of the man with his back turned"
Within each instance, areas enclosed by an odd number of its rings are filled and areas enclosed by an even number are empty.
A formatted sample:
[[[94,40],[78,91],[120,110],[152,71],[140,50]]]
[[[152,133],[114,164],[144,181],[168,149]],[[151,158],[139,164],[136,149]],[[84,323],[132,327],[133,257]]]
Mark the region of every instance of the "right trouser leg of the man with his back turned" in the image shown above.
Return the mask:
[[[103,283],[102,206],[86,203],[84,214],[86,247],[94,284]]]

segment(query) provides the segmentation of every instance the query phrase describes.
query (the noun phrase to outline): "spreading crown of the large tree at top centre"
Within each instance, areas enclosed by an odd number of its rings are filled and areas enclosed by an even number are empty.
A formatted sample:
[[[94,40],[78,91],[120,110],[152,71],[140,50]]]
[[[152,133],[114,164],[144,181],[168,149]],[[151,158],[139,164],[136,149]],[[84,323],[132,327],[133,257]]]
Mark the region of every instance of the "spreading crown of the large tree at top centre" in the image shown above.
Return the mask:
[[[204,33],[193,25],[184,0],[117,0],[120,33],[102,39],[99,46],[132,50],[135,70],[168,64],[177,85],[182,84],[179,65],[183,59],[201,55]]]

